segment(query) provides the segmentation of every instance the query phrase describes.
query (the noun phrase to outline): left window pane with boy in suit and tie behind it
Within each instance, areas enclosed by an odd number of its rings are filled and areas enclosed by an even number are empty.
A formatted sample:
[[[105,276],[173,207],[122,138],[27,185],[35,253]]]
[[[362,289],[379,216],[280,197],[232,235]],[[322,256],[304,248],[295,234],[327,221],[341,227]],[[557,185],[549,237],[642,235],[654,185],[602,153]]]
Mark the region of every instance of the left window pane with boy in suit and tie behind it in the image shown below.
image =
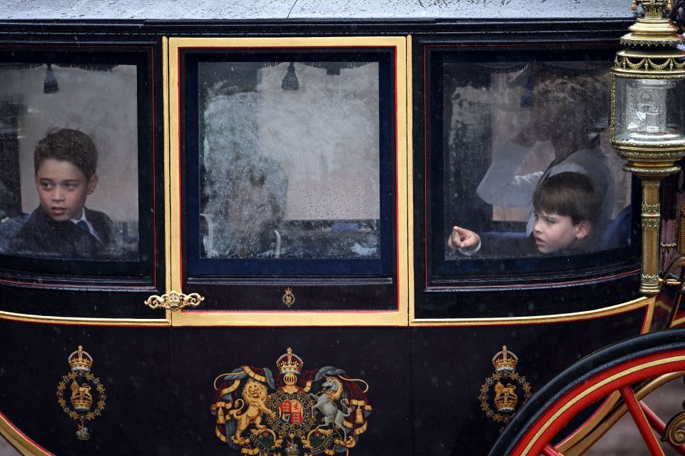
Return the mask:
[[[1,254],[138,258],[136,79],[135,65],[0,64]],[[89,138],[96,163],[83,141],[34,159],[39,141],[59,131]],[[86,228],[75,229],[83,214]]]

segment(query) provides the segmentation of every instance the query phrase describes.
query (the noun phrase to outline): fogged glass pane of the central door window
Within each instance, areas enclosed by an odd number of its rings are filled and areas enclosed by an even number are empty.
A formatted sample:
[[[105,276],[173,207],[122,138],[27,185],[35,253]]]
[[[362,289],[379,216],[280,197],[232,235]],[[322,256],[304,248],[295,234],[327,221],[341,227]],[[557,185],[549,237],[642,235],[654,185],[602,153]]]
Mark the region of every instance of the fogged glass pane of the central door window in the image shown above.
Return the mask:
[[[380,258],[377,62],[200,62],[201,258]]]

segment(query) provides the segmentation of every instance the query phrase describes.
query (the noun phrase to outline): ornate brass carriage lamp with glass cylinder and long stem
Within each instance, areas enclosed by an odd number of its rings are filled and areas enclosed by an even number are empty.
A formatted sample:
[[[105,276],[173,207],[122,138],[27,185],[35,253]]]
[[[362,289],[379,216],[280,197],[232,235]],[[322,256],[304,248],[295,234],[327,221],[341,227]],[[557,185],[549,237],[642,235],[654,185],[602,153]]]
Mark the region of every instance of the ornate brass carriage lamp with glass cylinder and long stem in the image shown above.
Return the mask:
[[[671,0],[633,0],[644,17],[621,37],[611,70],[611,142],[642,182],[642,274],[640,292],[659,293],[659,185],[680,171],[685,156],[685,38],[664,18]]]

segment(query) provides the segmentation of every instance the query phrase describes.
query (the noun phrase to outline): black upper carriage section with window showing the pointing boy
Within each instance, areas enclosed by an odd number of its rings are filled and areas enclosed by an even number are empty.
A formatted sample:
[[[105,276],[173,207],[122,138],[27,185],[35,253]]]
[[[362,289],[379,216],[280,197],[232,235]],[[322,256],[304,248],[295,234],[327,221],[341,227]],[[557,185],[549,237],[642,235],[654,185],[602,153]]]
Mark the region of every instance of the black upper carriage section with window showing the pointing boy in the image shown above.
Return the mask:
[[[415,224],[424,260],[415,318],[552,315],[602,308],[609,295],[634,299],[639,186],[608,143],[613,47],[417,47],[425,109],[415,220],[425,223]]]

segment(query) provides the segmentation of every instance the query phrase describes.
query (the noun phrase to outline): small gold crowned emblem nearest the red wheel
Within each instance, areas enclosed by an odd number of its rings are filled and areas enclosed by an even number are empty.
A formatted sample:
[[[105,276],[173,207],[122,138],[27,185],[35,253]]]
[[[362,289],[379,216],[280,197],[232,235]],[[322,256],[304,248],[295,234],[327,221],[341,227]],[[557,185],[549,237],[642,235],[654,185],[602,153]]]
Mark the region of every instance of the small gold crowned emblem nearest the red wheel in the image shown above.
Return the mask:
[[[504,345],[502,351],[492,358],[494,375],[485,379],[480,387],[480,407],[485,415],[497,422],[509,422],[519,404],[523,405],[532,396],[530,384],[525,377],[516,372],[518,363],[517,355],[507,350],[507,345]],[[490,391],[491,387],[494,394]],[[491,403],[496,411],[490,407]]]

